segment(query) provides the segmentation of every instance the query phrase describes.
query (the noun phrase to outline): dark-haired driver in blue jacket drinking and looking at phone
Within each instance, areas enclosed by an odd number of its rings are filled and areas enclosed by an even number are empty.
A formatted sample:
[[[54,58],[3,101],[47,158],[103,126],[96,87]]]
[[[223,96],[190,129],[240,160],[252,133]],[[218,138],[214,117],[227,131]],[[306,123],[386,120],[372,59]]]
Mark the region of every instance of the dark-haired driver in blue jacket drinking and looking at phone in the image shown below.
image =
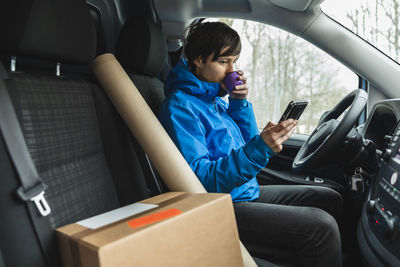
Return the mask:
[[[282,150],[297,121],[259,133],[248,86],[229,91],[240,37],[221,22],[189,26],[181,59],[165,81],[159,119],[208,192],[230,193],[245,244],[294,253],[301,266],[341,266],[335,219],[342,199],[329,188],[259,186],[256,175]],[[229,103],[221,97],[229,93]],[[330,214],[329,214],[330,213]],[[274,255],[271,255],[274,256]]]

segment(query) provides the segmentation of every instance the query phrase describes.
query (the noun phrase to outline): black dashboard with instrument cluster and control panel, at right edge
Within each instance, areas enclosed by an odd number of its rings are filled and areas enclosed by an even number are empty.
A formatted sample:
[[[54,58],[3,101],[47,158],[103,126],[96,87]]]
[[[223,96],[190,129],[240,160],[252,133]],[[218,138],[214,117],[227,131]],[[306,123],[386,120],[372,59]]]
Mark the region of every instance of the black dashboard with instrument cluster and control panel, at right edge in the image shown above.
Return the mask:
[[[377,103],[364,128],[380,153],[358,225],[368,266],[400,266],[400,99]]]

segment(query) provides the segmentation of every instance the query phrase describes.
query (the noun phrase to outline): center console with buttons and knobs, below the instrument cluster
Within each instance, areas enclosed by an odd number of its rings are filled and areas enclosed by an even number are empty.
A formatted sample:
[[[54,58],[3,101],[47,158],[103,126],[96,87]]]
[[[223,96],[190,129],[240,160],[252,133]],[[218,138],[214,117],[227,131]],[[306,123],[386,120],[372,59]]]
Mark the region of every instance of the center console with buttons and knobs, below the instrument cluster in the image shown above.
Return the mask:
[[[370,266],[400,266],[400,124],[388,139],[358,227]]]

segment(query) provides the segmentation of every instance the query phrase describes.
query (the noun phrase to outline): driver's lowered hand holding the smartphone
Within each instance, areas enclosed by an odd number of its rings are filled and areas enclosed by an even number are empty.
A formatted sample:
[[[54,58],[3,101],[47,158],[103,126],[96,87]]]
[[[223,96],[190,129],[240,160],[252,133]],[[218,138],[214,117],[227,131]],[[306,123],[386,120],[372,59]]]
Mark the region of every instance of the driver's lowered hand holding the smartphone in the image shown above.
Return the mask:
[[[282,144],[292,135],[296,125],[297,120],[293,119],[288,119],[278,124],[268,122],[260,135],[272,151],[278,153],[282,150]]]

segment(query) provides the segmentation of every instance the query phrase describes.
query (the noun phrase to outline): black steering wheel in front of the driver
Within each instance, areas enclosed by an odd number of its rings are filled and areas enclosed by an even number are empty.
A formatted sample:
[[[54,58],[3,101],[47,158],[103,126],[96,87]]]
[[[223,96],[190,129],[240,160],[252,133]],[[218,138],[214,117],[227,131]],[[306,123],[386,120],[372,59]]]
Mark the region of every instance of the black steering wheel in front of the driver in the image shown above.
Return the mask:
[[[345,96],[333,109],[322,114],[318,126],[304,142],[296,157],[292,169],[295,173],[305,173],[318,168],[335,149],[343,144],[350,130],[367,104],[368,94],[356,89]],[[348,108],[343,119],[337,118]]]

